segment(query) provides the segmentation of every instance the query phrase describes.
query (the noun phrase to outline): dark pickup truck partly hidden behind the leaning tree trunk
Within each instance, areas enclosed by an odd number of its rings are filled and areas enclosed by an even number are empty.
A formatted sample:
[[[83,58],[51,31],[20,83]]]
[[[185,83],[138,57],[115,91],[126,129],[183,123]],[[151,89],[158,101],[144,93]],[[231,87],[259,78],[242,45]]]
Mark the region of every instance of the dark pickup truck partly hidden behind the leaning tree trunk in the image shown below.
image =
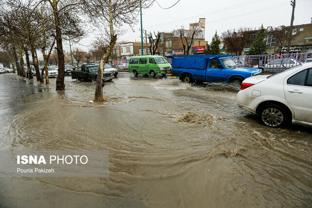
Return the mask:
[[[83,81],[95,81],[98,77],[98,65],[83,64],[72,71],[72,79]],[[114,77],[112,72],[103,72],[103,81],[110,81]]]

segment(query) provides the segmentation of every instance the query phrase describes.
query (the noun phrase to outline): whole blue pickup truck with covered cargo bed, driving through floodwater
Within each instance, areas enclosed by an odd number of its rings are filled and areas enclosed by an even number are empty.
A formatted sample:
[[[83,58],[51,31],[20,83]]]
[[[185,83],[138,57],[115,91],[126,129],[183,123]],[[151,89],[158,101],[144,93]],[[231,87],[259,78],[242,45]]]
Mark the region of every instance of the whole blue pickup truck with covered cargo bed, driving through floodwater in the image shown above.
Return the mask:
[[[183,82],[224,82],[239,85],[250,76],[259,75],[260,69],[238,67],[232,55],[188,55],[172,57],[172,75]]]

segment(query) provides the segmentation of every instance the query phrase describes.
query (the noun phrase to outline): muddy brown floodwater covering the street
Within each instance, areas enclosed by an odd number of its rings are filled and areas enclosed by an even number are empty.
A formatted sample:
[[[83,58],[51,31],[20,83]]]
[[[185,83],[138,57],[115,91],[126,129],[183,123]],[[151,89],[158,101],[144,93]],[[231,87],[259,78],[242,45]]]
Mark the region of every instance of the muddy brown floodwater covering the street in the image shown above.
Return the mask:
[[[12,207],[309,207],[312,131],[271,129],[237,89],[120,73],[41,86],[0,75],[0,150],[108,150],[109,177],[0,178]]]

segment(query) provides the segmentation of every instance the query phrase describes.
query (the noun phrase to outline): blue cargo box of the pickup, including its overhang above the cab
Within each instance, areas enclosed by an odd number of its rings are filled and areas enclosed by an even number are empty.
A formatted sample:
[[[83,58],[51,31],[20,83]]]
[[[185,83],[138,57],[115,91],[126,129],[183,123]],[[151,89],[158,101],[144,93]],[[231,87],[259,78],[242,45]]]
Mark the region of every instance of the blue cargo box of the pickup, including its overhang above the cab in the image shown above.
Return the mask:
[[[206,69],[207,59],[214,57],[232,57],[233,55],[188,55],[173,56],[173,68]]]

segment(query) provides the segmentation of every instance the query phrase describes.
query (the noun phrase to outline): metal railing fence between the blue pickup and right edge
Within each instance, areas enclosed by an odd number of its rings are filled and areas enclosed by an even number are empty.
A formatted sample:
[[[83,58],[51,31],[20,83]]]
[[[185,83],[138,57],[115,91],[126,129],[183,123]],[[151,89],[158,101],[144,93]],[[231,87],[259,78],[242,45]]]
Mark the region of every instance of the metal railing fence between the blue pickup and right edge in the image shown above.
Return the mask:
[[[273,74],[300,65],[307,58],[312,58],[312,53],[234,56],[233,60],[240,67],[258,68]]]

